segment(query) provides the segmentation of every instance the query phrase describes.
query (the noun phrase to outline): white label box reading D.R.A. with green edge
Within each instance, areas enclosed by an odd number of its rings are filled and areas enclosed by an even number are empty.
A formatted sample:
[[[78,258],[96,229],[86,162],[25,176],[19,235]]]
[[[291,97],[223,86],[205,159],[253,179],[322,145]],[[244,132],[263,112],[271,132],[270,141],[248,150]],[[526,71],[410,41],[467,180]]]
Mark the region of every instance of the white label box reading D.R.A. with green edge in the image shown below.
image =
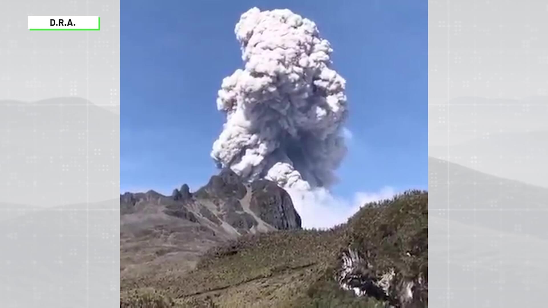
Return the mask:
[[[99,31],[99,16],[28,16],[28,30]]]

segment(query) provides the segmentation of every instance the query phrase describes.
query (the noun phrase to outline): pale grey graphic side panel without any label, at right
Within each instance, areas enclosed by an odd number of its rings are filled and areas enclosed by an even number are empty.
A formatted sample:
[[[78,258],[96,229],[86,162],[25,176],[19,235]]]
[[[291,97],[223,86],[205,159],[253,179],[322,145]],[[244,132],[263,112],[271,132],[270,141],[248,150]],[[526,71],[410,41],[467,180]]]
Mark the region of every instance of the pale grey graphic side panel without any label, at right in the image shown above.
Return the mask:
[[[544,305],[547,69],[545,2],[429,1],[432,307]]]

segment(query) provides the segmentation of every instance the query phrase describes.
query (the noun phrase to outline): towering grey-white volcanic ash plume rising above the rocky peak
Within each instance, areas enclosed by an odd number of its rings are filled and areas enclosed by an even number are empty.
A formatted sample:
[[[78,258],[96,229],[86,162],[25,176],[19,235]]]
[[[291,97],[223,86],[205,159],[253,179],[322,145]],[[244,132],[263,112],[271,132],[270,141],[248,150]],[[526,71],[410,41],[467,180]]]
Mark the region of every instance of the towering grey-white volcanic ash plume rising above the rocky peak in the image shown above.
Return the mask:
[[[329,42],[288,9],[253,8],[236,24],[245,68],[222,81],[226,123],[213,144],[219,167],[288,189],[329,187],[346,153],[345,80],[330,69]]]

